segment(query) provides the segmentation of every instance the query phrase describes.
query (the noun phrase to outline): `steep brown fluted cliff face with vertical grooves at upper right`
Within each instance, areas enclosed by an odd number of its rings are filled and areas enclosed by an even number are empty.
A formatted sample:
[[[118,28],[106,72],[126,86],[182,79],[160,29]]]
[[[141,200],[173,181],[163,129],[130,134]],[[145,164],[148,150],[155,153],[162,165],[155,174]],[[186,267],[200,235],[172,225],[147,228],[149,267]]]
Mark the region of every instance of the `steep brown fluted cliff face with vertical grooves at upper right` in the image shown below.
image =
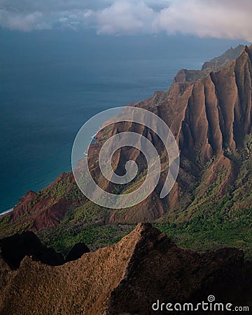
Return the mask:
[[[200,153],[204,163],[226,148],[241,148],[251,132],[251,53],[246,47],[228,67],[175,84],[158,103],[156,111],[177,137],[181,154]]]

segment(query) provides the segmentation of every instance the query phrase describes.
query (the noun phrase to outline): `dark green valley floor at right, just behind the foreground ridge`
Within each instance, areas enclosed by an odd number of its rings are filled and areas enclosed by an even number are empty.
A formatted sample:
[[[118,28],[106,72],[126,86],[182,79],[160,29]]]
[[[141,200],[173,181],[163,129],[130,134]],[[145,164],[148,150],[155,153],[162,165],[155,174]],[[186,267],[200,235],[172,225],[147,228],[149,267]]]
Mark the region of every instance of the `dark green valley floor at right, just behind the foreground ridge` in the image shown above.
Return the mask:
[[[183,248],[206,251],[225,246],[236,247],[244,251],[246,259],[252,259],[252,209],[244,211],[237,221],[228,221],[221,211],[216,211],[214,214],[195,216],[181,225],[154,225]]]

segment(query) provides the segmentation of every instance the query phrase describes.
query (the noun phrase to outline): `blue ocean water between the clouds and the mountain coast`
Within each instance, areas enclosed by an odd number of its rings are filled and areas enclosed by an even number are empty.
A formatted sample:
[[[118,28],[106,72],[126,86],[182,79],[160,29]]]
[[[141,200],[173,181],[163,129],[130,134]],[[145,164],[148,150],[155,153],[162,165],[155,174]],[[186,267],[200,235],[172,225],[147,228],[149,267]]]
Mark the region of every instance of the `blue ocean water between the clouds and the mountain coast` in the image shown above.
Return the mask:
[[[85,121],[167,90],[240,41],[0,29],[0,213],[71,170]]]

